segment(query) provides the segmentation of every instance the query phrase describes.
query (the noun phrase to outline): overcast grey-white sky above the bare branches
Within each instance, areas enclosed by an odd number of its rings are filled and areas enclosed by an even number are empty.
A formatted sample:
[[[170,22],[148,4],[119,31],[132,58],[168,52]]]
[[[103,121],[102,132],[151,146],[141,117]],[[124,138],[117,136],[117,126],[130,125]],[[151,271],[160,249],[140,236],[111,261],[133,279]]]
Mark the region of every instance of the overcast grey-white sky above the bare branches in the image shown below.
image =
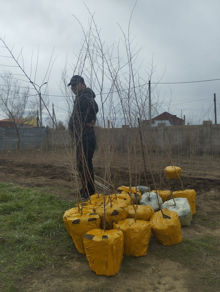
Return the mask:
[[[109,46],[127,33],[129,18],[135,1],[131,0],[85,0],[94,14],[101,38]],[[136,36],[137,47],[143,46],[137,62],[142,63],[140,74],[143,80],[145,68],[153,56],[156,71],[151,82],[175,83],[202,81],[220,78],[220,2],[219,0],[137,0],[131,19],[131,37]],[[54,47],[53,64],[48,81],[50,105],[55,105],[58,119],[65,119],[65,103],[61,95],[61,72],[66,58],[71,64],[76,62],[76,55],[83,39],[82,28],[74,14],[85,29],[88,28],[89,14],[83,1],[58,0],[8,0],[1,2],[0,36],[5,36],[6,44],[12,47],[15,55],[23,47],[25,70],[30,73],[33,50],[33,66],[36,66],[39,45],[39,61],[36,83],[41,84]],[[119,24],[119,25],[118,25]],[[2,46],[2,44],[1,44]],[[124,53],[122,53],[124,54]],[[0,55],[8,55],[0,47]],[[126,54],[122,55],[126,58]],[[10,69],[13,74],[22,74],[10,58],[0,57],[0,73]],[[72,65],[73,66],[73,65]],[[67,75],[71,77],[72,69],[67,66]],[[26,80],[24,77],[21,79]],[[28,82],[22,81],[23,86]],[[106,90],[109,84],[105,84]],[[220,123],[220,80],[185,83],[160,84],[162,95],[169,101],[172,91],[172,107],[169,111],[181,117],[186,115],[188,121],[201,123],[204,119],[214,121],[214,93],[216,93],[217,122]],[[95,91],[95,90],[94,90]],[[97,93],[97,92],[96,92]],[[155,92],[156,94],[156,92]],[[164,97],[163,97],[164,96]],[[97,94],[97,101],[99,95]],[[51,110],[51,107],[50,107]],[[166,106],[164,103],[164,110]],[[0,112],[0,118],[3,118]]]

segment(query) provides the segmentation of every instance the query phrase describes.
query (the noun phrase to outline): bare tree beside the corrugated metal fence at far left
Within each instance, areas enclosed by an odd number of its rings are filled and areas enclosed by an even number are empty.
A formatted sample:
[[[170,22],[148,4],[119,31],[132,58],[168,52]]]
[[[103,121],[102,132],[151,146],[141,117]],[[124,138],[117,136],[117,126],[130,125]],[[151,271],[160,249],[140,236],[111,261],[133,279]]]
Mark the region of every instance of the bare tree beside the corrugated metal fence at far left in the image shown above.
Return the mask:
[[[37,115],[37,105],[29,99],[29,88],[22,88],[10,72],[1,75],[1,81],[0,108],[15,127],[18,136],[17,149],[20,150],[21,138],[29,128],[28,124]]]

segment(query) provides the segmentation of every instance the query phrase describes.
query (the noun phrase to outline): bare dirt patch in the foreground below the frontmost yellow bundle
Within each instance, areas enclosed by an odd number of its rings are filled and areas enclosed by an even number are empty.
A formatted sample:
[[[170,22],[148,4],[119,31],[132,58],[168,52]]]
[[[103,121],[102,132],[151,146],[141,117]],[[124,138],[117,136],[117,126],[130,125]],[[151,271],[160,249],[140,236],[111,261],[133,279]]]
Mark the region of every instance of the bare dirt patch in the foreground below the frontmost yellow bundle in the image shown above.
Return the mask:
[[[163,268],[161,268],[163,267]],[[126,271],[124,271],[126,269]],[[141,270],[141,271],[140,271]],[[132,264],[121,268],[114,277],[96,276],[82,262],[67,261],[65,268],[47,270],[21,286],[26,292],[51,291],[190,291],[190,272],[169,260],[156,260],[150,255],[132,258]],[[191,278],[192,279],[192,278]],[[49,282],[46,282],[49,280]],[[26,287],[25,287],[26,286]],[[100,289],[100,290],[99,290]]]

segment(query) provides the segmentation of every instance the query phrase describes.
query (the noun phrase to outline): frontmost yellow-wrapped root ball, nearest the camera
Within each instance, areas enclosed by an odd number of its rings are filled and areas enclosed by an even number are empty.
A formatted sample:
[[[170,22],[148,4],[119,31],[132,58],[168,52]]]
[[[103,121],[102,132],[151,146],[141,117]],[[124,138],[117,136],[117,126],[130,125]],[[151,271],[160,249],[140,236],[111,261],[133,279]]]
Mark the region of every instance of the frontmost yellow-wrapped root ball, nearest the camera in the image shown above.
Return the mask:
[[[114,276],[123,259],[124,236],[120,230],[93,229],[83,236],[89,267],[97,275]]]

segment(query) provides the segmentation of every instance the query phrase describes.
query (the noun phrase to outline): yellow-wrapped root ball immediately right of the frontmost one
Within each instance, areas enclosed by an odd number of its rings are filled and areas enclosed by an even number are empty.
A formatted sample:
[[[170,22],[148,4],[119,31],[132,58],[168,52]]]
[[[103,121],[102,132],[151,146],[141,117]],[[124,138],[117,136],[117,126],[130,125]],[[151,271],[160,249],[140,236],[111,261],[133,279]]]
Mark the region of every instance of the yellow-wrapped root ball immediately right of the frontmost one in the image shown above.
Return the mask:
[[[115,222],[113,228],[124,234],[124,255],[144,256],[147,253],[152,228],[148,221],[125,219]]]

